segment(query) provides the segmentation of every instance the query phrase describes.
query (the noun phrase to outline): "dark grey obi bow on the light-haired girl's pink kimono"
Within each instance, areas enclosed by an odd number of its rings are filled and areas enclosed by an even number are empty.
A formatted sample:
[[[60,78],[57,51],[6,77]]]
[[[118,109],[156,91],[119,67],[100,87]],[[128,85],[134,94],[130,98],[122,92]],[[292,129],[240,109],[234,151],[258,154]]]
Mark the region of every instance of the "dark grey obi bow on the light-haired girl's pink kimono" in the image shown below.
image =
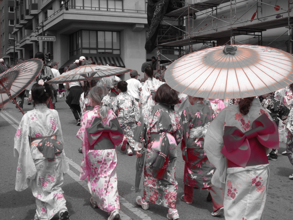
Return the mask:
[[[89,128],[86,128],[88,133],[88,142],[92,145],[103,146],[114,144],[118,146],[123,140],[123,131],[117,118],[109,121],[109,125],[103,125],[103,121],[96,117]]]

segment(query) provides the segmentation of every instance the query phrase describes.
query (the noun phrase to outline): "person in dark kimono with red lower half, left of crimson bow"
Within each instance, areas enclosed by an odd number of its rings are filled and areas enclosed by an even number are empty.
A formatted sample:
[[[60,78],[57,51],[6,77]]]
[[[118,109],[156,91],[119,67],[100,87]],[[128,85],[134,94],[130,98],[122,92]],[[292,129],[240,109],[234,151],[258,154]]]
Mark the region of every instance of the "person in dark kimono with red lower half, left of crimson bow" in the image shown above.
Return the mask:
[[[204,151],[204,137],[209,124],[214,119],[214,111],[203,104],[203,98],[188,96],[191,106],[182,111],[183,140],[181,150],[184,167],[184,195],[181,200],[192,204],[193,188],[207,188],[213,201],[212,216],[222,215],[224,212],[224,195],[221,189],[211,184],[214,166],[209,163]]]

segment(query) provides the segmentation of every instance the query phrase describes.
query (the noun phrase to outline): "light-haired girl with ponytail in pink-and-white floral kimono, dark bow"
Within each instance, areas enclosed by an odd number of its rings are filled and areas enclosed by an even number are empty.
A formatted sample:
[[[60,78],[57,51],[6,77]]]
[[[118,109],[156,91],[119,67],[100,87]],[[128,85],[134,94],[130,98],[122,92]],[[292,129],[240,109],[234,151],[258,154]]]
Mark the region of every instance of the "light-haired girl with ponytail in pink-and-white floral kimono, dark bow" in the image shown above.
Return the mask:
[[[108,212],[108,220],[117,220],[120,219],[120,204],[115,146],[122,142],[123,131],[114,112],[108,108],[108,90],[95,86],[90,90],[89,97],[94,108],[84,113],[76,135],[82,141],[84,156],[79,179],[87,178],[93,208]]]

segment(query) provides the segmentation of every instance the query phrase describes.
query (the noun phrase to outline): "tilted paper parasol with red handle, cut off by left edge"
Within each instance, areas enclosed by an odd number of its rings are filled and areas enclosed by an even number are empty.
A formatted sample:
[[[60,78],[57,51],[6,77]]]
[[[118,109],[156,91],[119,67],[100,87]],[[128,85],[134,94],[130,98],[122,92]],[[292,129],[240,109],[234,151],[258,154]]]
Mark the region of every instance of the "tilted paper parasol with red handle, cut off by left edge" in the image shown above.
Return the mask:
[[[35,78],[43,68],[43,61],[40,59],[25,60],[18,65],[0,74],[0,106],[13,100],[20,94]],[[22,109],[15,102],[17,107],[24,114]]]

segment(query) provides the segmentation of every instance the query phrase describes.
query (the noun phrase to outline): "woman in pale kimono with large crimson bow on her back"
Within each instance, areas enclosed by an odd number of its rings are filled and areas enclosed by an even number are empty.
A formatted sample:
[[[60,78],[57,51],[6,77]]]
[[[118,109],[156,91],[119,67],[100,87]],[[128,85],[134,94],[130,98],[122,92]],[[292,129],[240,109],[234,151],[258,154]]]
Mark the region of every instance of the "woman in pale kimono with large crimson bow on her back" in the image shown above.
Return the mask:
[[[226,220],[262,219],[270,173],[267,154],[278,144],[276,123],[254,97],[227,106],[209,125],[205,153],[216,168],[212,184],[225,189]]]

